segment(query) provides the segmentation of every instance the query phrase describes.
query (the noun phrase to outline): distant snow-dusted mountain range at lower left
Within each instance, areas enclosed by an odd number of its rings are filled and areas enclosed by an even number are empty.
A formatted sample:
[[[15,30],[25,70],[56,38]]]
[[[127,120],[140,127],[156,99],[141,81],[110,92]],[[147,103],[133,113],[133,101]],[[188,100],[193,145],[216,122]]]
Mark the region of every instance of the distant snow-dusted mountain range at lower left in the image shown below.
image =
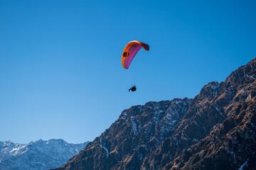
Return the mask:
[[[87,143],[70,144],[64,140],[38,140],[28,144],[0,142],[0,169],[53,169],[78,154]]]

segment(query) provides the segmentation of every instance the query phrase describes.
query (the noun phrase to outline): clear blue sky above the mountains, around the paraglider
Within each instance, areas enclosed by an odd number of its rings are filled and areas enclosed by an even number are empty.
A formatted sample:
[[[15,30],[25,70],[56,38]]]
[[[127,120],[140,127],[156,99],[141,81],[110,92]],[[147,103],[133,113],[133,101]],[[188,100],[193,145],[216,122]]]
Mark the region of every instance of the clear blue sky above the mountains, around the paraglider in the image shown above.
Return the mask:
[[[0,0],[0,141],[92,141],[130,106],[193,98],[256,57],[255,8],[235,0]],[[131,40],[150,50],[126,70]]]

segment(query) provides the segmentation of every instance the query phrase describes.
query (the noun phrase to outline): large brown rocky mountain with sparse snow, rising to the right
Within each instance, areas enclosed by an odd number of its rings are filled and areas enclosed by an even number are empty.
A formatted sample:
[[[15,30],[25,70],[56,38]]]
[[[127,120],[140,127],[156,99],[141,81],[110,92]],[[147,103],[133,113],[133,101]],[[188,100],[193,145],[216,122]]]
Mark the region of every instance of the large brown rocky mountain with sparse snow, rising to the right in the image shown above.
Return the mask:
[[[124,110],[58,169],[256,169],[256,58],[193,99]]]

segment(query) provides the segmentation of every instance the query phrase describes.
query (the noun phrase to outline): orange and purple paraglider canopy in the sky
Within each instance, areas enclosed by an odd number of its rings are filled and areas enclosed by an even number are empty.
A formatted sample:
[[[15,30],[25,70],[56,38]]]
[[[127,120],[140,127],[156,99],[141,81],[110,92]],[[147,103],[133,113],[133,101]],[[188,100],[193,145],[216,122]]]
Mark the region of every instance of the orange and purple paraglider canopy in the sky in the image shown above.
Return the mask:
[[[122,66],[124,69],[128,69],[129,65],[131,64],[132,60],[134,59],[134,56],[137,54],[137,52],[144,48],[144,50],[149,51],[149,45],[145,44],[144,42],[140,42],[137,40],[133,40],[129,42],[125,47],[124,51],[122,53]]]

